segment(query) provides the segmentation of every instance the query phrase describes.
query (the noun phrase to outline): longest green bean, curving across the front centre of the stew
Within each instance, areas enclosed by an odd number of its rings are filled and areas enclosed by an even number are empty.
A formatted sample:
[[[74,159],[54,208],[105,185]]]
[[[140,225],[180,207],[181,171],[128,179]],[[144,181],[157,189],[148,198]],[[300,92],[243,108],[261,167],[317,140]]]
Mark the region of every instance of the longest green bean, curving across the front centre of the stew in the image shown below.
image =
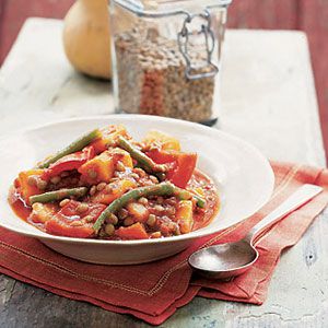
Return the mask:
[[[94,223],[93,229],[98,232],[105,220],[112,213],[116,213],[121,208],[124,208],[130,200],[137,200],[141,197],[149,196],[173,196],[175,194],[175,186],[171,183],[161,183],[159,185],[145,186],[132,189],[125,194],[124,196],[115,199],[98,216],[97,221]]]

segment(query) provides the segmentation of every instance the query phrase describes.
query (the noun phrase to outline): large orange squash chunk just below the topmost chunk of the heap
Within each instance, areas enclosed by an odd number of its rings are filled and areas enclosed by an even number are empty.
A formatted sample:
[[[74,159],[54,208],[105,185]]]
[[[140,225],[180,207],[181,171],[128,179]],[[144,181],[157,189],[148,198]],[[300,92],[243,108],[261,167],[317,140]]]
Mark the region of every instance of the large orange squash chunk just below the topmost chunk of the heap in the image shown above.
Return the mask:
[[[127,167],[133,167],[130,154],[125,150],[115,148],[87,161],[78,171],[81,173],[82,179],[91,185],[101,181],[108,183],[118,161],[121,161]]]

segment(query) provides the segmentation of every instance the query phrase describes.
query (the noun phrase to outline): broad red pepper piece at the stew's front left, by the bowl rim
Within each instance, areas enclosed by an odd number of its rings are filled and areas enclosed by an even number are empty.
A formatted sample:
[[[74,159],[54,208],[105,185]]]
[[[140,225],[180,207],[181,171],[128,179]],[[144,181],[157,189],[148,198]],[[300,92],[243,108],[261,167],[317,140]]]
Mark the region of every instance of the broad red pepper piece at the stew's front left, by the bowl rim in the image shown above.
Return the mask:
[[[94,235],[93,224],[104,211],[104,204],[87,204],[89,209],[82,213],[77,212],[79,201],[70,200],[61,210],[45,223],[46,232],[52,235],[89,238]],[[89,216],[90,222],[82,221]]]

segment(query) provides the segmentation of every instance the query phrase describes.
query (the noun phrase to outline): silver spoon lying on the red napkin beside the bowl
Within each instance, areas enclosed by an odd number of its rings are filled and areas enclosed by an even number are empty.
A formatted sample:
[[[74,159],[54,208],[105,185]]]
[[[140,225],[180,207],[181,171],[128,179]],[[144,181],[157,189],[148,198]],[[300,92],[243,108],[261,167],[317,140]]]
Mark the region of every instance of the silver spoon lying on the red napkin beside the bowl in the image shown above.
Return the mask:
[[[190,267],[200,276],[210,279],[230,279],[244,273],[258,259],[259,254],[255,248],[257,239],[274,223],[320,191],[323,191],[321,187],[303,185],[274,211],[256,224],[242,241],[214,245],[195,251],[188,259]]]

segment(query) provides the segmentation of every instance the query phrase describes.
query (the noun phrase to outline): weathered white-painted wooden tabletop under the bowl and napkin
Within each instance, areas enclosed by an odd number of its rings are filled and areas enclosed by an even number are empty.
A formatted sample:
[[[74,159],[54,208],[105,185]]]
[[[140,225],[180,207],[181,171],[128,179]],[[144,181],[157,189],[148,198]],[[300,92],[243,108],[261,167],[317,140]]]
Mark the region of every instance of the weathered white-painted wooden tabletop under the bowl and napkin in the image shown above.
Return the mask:
[[[59,21],[39,19],[24,25],[0,70],[1,133],[67,117],[113,112],[110,84],[80,75],[67,62],[61,27]],[[225,46],[222,129],[256,144],[269,157],[324,166],[304,34],[229,31]],[[327,234],[328,211],[296,246],[283,254],[262,306],[196,297],[162,326],[326,327]],[[149,325],[2,276],[0,327]]]

